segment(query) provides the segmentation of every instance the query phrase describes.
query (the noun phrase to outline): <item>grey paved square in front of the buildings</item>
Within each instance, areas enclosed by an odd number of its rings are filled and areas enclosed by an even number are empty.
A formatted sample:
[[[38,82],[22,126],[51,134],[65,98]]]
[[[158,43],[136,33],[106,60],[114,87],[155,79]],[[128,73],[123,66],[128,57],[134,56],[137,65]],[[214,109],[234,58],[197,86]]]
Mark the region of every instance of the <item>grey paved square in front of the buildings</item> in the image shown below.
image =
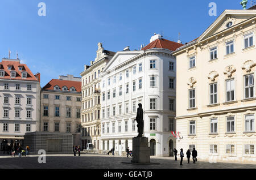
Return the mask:
[[[151,162],[160,163],[159,165],[133,165],[123,164],[130,162],[131,157],[108,156],[108,155],[47,155],[46,164],[39,164],[39,155],[30,155],[27,157],[0,156],[0,168],[61,168],[61,169],[225,169],[225,168],[256,168],[255,164],[232,164],[232,163],[209,163],[197,162],[196,164],[179,165],[179,161],[174,161],[173,157],[151,157]]]

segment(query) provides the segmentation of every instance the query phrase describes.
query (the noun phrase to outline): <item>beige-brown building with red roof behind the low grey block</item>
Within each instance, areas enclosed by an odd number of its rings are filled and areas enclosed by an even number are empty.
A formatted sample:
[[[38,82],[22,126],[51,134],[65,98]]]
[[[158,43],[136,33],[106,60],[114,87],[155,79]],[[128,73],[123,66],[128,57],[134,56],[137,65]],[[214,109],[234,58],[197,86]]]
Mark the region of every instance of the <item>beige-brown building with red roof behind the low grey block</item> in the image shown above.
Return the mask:
[[[41,113],[39,131],[46,134],[72,134],[73,145],[81,145],[81,78],[73,75],[52,79],[41,91]],[[61,152],[52,142],[47,151]],[[53,148],[53,149],[52,149]],[[56,149],[54,149],[56,148]]]

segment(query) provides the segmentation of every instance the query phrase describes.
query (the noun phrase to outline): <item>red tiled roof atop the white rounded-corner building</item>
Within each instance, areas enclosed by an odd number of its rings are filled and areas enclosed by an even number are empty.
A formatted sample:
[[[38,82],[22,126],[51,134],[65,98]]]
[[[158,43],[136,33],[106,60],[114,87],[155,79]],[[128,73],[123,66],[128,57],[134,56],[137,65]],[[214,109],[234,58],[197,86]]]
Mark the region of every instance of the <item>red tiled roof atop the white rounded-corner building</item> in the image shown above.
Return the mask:
[[[183,44],[169,41],[164,38],[157,39],[155,41],[150,42],[150,44],[146,45],[142,50],[146,49],[152,49],[152,48],[162,48],[162,49],[169,49],[171,51],[175,51],[177,48],[180,48],[180,46],[183,46]]]

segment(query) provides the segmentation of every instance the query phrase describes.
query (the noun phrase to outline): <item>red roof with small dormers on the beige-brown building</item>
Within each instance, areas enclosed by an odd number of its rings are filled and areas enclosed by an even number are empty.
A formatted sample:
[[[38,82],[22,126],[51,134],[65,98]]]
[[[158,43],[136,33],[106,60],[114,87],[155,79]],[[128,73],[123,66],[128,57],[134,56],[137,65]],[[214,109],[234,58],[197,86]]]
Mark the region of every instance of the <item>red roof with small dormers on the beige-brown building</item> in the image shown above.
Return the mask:
[[[60,91],[62,91],[62,88],[66,86],[68,88],[68,91],[70,88],[74,87],[76,89],[76,92],[81,92],[81,82],[75,82],[72,80],[60,80],[60,79],[52,79],[49,83],[47,83],[42,90],[52,90],[54,91],[54,87],[58,85],[60,87]],[[70,91],[73,92],[73,91]]]

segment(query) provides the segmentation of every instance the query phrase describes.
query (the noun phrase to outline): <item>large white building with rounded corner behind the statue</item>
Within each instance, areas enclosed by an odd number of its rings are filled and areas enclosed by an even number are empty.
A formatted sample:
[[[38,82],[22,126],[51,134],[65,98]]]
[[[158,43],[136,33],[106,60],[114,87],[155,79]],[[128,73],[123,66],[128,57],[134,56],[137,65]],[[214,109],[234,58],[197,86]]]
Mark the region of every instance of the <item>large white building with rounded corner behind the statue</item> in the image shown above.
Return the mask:
[[[138,104],[144,111],[144,136],[152,156],[171,156],[176,139],[176,59],[172,52],[182,44],[151,37],[141,50],[117,52],[101,74],[101,147],[119,155],[132,150],[138,135]]]

